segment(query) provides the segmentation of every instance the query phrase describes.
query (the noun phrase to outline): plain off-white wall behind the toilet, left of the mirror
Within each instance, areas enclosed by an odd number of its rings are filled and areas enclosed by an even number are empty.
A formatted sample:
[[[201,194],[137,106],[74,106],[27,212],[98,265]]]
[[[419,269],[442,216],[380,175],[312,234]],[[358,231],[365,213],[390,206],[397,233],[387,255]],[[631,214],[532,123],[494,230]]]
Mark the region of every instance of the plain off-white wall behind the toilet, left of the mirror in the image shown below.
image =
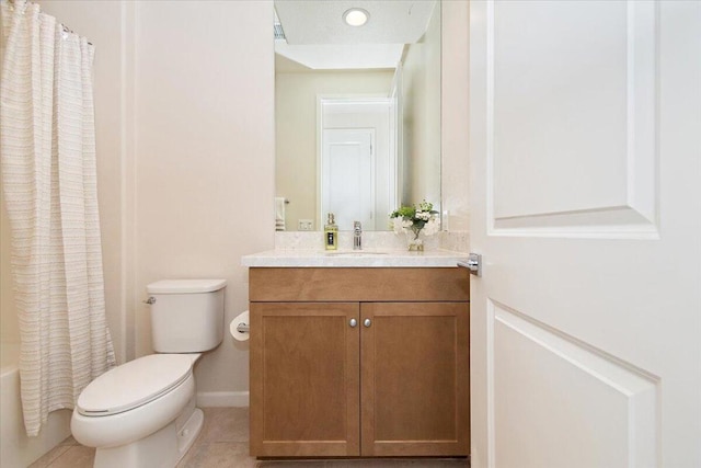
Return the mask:
[[[146,285],[226,278],[229,323],[248,308],[241,255],[274,247],[272,22],[269,1],[137,3],[137,355],[151,352]],[[248,391],[248,343],[227,333],[197,390]]]

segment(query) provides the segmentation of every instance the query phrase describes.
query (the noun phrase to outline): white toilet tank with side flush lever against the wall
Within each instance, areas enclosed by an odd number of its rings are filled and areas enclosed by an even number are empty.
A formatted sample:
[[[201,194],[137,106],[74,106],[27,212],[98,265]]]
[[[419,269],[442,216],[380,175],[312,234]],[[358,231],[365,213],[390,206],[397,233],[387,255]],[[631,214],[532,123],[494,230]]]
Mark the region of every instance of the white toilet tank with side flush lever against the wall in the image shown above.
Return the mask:
[[[198,353],[223,339],[226,279],[163,279],[146,289],[157,353]]]

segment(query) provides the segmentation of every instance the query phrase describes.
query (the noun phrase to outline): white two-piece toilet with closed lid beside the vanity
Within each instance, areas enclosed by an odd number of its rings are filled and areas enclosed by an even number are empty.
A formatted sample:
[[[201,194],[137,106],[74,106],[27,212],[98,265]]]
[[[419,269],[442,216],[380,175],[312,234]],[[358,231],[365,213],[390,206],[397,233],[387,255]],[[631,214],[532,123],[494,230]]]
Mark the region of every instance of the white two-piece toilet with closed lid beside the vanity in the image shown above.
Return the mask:
[[[223,338],[226,279],[166,279],[147,286],[157,353],[117,366],[78,397],[73,437],[96,447],[97,468],[171,468],[199,434],[193,366]]]

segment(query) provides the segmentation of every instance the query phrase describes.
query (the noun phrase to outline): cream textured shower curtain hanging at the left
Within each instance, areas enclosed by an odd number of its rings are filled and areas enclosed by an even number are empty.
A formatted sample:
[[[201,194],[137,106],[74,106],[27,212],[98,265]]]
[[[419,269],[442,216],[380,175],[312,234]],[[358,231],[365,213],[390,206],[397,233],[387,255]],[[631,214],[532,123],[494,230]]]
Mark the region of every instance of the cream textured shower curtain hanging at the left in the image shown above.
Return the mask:
[[[114,366],[97,214],[93,46],[26,0],[1,1],[2,185],[28,435]]]

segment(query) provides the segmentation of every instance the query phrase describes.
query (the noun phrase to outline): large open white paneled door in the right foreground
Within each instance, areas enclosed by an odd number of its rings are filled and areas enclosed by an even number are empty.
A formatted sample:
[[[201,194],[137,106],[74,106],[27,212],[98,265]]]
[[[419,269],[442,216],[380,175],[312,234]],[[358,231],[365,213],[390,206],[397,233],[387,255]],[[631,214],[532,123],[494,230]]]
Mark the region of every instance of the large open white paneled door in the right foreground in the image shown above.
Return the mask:
[[[701,2],[470,23],[472,466],[701,467]]]

